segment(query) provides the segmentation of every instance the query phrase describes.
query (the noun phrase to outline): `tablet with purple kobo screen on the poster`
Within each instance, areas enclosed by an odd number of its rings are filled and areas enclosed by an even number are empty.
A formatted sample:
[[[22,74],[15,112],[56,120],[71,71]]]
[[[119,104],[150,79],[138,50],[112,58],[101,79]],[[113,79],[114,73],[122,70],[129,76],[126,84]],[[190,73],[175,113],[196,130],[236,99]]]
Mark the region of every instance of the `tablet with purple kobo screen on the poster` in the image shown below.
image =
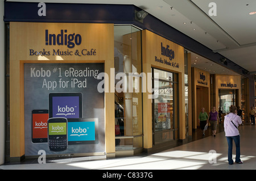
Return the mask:
[[[82,94],[81,92],[50,93],[49,94],[49,118],[81,118]]]

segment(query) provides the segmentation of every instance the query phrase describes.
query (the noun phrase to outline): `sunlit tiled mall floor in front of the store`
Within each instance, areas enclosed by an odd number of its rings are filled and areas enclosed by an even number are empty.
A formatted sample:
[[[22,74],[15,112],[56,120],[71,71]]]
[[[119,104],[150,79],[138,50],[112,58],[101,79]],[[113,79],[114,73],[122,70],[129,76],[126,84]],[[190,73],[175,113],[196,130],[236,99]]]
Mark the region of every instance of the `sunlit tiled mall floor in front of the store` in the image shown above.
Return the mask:
[[[170,170],[170,169],[204,169],[204,170],[249,170],[256,169],[256,126],[243,125],[241,134],[241,160],[243,164],[229,165],[227,161],[228,144],[224,132],[217,132],[216,137],[205,136],[155,154],[142,154],[135,157],[105,159],[98,157],[57,159],[46,164],[29,163],[18,165],[1,165],[0,169],[103,169],[103,170]],[[209,134],[209,133],[207,133]],[[196,135],[195,135],[196,136]],[[236,153],[233,144],[233,154]],[[212,150],[212,151],[210,151]],[[210,151],[210,154],[209,154]],[[216,151],[216,153],[214,153]],[[235,155],[233,155],[234,159]],[[216,158],[216,159],[215,159]],[[215,163],[209,162],[216,161]]]

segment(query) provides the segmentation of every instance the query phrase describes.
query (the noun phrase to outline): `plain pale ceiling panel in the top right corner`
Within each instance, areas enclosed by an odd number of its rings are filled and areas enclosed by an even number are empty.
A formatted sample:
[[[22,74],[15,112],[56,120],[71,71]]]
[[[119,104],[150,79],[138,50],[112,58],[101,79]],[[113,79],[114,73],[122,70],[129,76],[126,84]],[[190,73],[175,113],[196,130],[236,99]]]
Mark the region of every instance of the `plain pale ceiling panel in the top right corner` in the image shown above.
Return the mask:
[[[212,0],[192,0],[196,6],[209,15]],[[256,16],[249,15],[256,10],[255,0],[215,0],[216,16],[209,16],[239,45],[256,43]]]

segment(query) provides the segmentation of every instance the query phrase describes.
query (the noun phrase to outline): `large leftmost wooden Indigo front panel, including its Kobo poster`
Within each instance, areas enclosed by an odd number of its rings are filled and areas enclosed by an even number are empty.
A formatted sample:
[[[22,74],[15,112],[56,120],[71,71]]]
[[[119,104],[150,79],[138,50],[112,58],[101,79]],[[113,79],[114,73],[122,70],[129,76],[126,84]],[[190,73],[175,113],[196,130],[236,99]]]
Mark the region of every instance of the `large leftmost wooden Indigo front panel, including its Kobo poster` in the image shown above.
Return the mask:
[[[39,150],[114,153],[114,104],[105,106],[114,93],[97,91],[101,74],[114,68],[113,35],[113,24],[10,22],[13,160]]]

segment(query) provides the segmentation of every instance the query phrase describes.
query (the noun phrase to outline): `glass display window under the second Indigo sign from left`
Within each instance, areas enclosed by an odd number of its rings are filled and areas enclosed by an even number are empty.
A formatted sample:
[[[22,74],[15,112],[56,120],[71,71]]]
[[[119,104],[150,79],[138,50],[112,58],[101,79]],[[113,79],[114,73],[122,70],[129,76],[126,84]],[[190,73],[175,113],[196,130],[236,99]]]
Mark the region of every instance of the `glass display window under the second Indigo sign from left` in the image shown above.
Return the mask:
[[[154,79],[158,73],[159,79]],[[164,70],[152,69],[154,94],[158,98],[152,99],[153,106],[153,144],[175,139],[175,86],[176,74]]]

